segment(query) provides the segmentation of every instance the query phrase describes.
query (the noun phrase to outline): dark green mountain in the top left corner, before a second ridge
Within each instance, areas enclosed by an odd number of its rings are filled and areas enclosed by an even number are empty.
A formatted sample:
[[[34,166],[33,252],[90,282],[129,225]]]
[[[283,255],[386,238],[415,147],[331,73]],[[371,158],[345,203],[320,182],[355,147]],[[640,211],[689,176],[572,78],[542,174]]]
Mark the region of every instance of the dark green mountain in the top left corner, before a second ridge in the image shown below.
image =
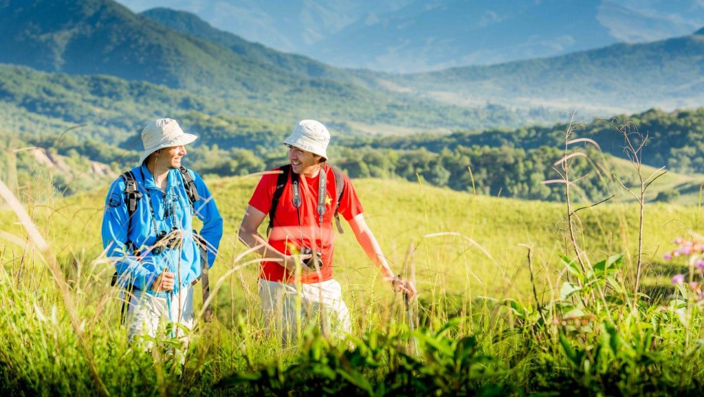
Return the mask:
[[[0,4],[0,62],[49,72],[107,74],[202,92],[265,94],[322,85],[258,58],[182,34],[111,0]],[[301,81],[303,80],[303,81]],[[335,82],[327,89],[351,94]],[[307,87],[310,86],[310,87]]]

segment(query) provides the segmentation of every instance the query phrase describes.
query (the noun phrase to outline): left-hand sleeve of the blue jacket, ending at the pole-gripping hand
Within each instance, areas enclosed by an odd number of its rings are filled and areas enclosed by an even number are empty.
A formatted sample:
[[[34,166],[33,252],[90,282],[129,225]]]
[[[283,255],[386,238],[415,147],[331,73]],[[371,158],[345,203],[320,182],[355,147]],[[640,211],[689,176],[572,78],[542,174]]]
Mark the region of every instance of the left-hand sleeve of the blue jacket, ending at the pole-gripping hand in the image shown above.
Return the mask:
[[[115,263],[115,270],[119,276],[118,282],[122,286],[132,283],[138,289],[147,289],[158,275],[144,268],[139,261],[134,260],[133,253],[126,246],[129,239],[127,237],[129,215],[127,204],[123,199],[124,190],[125,182],[122,181],[122,178],[117,179],[111,185],[105,198],[105,213],[101,228],[103,250],[108,260]]]

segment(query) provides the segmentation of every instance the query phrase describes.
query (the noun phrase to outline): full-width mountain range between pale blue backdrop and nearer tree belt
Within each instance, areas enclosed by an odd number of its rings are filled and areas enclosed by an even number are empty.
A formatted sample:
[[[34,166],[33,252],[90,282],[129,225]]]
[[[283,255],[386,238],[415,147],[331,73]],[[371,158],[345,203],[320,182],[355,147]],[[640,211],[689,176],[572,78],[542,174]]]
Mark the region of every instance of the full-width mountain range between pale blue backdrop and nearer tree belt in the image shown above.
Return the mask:
[[[6,0],[0,20],[0,63],[46,72],[0,67],[0,101],[31,113],[27,120],[96,123],[117,127],[120,137],[163,111],[274,123],[318,118],[346,134],[389,134],[553,123],[575,108],[608,118],[704,100],[700,34],[395,75],[334,68],[190,13],[134,14],[111,0]],[[30,125],[23,120],[15,125]]]

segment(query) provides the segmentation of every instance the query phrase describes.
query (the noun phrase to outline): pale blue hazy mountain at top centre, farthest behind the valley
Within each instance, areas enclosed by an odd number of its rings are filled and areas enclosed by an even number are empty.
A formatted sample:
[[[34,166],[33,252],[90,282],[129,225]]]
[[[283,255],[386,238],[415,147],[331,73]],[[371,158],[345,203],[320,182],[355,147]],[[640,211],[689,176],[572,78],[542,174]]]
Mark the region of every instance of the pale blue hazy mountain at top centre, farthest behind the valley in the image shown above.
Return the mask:
[[[335,65],[401,72],[539,58],[617,42],[598,22],[600,5],[601,0],[413,3],[374,23],[350,25],[313,49]]]

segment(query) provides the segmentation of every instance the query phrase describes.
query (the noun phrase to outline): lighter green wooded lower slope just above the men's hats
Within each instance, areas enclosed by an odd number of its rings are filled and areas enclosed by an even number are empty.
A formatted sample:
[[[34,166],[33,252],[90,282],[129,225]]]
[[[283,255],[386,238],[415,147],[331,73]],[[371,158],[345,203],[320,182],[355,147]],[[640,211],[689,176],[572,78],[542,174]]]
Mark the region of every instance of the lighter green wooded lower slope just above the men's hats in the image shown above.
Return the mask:
[[[15,108],[0,122],[0,130],[51,134],[63,127],[85,124],[87,127],[74,133],[124,146],[139,139],[138,132],[148,120],[166,115],[180,119],[181,115],[195,113],[199,120],[212,118],[218,122],[203,128],[186,124],[187,127],[197,127],[206,134],[202,141],[208,144],[229,146],[229,142],[215,141],[215,137],[222,137],[220,131],[236,136],[238,124],[229,120],[239,118],[285,125],[293,125],[301,118],[316,118],[340,135],[379,130],[408,133],[484,129],[492,125],[517,127],[532,120],[527,114],[501,106],[491,109],[437,107],[425,101],[387,101],[374,92],[358,94],[311,96],[302,89],[287,93],[285,98],[253,100],[236,95],[211,96],[106,75],[46,73],[0,64],[0,106]],[[44,128],[38,129],[38,125]],[[52,132],[48,127],[56,127],[56,130]],[[210,135],[213,139],[208,138]],[[258,137],[260,141],[268,139],[270,137],[263,134]]]

